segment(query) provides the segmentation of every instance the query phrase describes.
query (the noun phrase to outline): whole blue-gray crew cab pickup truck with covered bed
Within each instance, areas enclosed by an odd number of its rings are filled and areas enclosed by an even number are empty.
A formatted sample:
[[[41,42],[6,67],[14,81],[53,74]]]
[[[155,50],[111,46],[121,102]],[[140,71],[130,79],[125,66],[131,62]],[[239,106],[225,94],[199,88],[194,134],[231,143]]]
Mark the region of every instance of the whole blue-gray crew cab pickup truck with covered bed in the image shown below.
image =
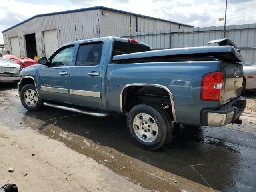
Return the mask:
[[[70,42],[20,72],[18,91],[27,110],[50,106],[104,117],[128,114],[139,146],[156,150],[172,137],[173,123],[240,123],[244,62],[228,45],[151,51],[132,39]],[[118,127],[118,125],[117,125]]]

